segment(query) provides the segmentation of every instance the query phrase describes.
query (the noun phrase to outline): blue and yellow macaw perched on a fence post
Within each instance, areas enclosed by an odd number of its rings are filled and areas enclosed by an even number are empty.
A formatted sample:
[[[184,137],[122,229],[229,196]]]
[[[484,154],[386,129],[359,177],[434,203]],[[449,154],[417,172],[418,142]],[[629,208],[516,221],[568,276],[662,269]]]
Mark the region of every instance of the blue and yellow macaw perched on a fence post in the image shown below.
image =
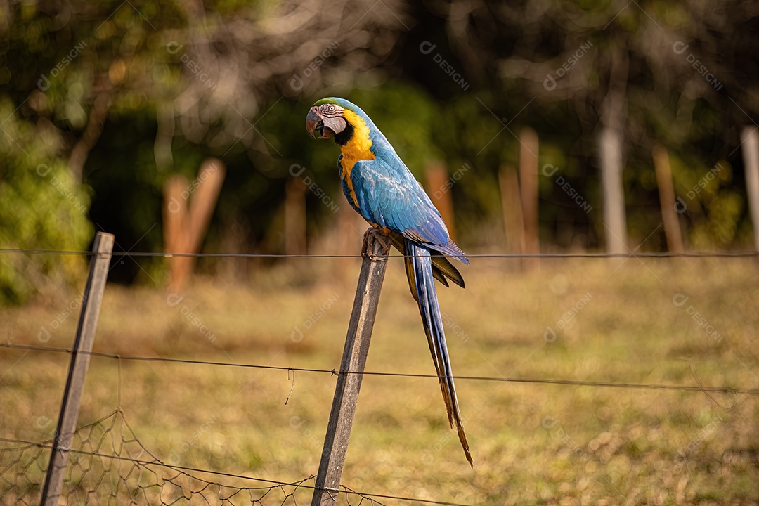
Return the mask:
[[[337,165],[345,198],[370,225],[389,233],[392,245],[405,256],[408,286],[419,304],[448,421],[451,428],[455,422],[461,447],[474,466],[433,281],[435,278],[447,287],[449,278],[464,288],[464,278],[443,255],[467,265],[469,260],[451,240],[440,212],[421,184],[361,108],[345,99],[321,99],[308,112],[306,128],[314,139],[333,138],[340,146]]]

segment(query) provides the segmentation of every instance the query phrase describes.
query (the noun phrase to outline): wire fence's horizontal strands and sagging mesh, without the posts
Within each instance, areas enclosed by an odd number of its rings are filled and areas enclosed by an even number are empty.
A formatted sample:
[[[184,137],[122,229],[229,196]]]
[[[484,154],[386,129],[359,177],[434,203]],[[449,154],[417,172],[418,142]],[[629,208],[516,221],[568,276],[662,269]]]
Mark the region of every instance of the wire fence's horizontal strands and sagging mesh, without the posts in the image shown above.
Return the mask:
[[[82,255],[90,251],[24,250],[4,248],[0,254]],[[359,255],[281,255],[258,253],[153,253],[113,252],[112,256],[153,256],[172,258],[194,257],[247,257],[247,258],[361,258]],[[392,255],[402,257],[403,255]],[[688,252],[688,253],[540,253],[540,254],[481,254],[470,258],[747,258],[756,257],[755,251]],[[16,344],[9,340],[0,347],[40,353],[72,354],[63,347],[46,347]],[[432,374],[383,371],[342,371],[328,368],[269,366],[253,363],[226,363],[213,360],[194,360],[179,357],[140,357],[106,352],[86,352],[92,357],[118,361],[119,398],[121,398],[121,362],[143,361],[183,363],[197,366],[219,366],[251,369],[269,369],[287,372],[307,372],[329,375],[362,374],[364,376],[394,376],[404,378],[438,378]],[[695,385],[643,384],[626,382],[592,382],[545,378],[512,378],[501,376],[453,376],[457,380],[476,382],[512,382],[522,384],[559,385],[572,388],[635,388],[662,391],[701,392],[710,400],[710,394],[757,395],[757,388],[709,387],[701,383],[693,369]],[[294,379],[293,379],[294,381]],[[53,441],[24,441],[0,438],[0,504],[39,504],[43,482],[49,465]],[[182,467],[167,464],[152,454],[137,438],[134,430],[118,407],[101,419],[81,426],[74,435],[69,450],[68,467],[61,498],[67,504],[304,504],[313,493],[315,476],[294,482],[282,482],[254,476]],[[381,501],[405,501],[419,504],[468,506],[466,504],[431,501],[398,495],[357,492],[341,485],[335,489],[337,504],[385,504]],[[339,493],[338,493],[339,492]]]

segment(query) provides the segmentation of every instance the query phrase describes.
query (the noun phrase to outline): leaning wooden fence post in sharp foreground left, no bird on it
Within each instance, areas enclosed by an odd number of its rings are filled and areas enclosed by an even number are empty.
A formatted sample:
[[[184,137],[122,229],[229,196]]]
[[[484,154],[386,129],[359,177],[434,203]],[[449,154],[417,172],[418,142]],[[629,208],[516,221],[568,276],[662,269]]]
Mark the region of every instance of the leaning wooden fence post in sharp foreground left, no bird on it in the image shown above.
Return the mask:
[[[47,468],[40,503],[42,506],[57,506],[61,498],[68,451],[71,449],[71,440],[77,429],[84,379],[87,376],[87,367],[90,365],[90,352],[93,350],[95,341],[97,319],[100,314],[102,294],[106,290],[112,251],[112,234],[98,232],[93,245],[93,257],[90,260],[90,275],[87,276],[87,285],[84,287],[82,311],[79,315],[77,336],[74,338],[74,348],[71,351],[71,363],[68,366],[58,427],[55,430],[55,439],[50,452],[50,464]]]

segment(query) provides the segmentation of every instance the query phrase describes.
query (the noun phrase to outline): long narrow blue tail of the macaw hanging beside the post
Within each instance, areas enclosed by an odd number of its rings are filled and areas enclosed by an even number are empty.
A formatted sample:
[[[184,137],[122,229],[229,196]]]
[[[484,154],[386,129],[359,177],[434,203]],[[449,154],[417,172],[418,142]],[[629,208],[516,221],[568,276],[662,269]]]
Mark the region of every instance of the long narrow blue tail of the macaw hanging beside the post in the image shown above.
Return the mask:
[[[456,388],[453,385],[453,371],[451,369],[451,360],[448,357],[448,347],[446,347],[446,333],[442,328],[442,317],[440,316],[440,307],[437,304],[437,293],[435,291],[435,281],[433,278],[433,264],[430,258],[430,250],[414,243],[411,240],[405,240],[406,254],[406,275],[408,283],[412,289],[411,294],[419,303],[419,313],[422,316],[424,332],[427,334],[427,343],[430,344],[430,354],[432,354],[437,376],[440,382],[443,401],[446,401],[448,410],[448,421],[453,428],[456,424],[458,430],[458,440],[461,441],[461,448],[469,460],[469,464],[474,467],[471,454],[469,453],[469,443],[467,435],[464,432],[464,422],[461,420],[461,412],[458,410],[458,400],[456,399]]]

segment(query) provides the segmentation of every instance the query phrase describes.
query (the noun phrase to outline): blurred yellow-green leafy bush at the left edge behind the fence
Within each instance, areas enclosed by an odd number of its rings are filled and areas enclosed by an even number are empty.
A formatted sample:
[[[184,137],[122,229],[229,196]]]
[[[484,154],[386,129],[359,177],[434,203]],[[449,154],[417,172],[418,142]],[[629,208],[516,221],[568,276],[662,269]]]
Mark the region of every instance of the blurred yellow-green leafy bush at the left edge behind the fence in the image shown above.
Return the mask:
[[[32,250],[86,250],[93,237],[87,220],[90,195],[71,178],[57,156],[53,136],[40,136],[0,102],[0,244]],[[39,287],[71,282],[86,264],[77,256],[4,254],[0,260],[0,304],[23,303]]]

